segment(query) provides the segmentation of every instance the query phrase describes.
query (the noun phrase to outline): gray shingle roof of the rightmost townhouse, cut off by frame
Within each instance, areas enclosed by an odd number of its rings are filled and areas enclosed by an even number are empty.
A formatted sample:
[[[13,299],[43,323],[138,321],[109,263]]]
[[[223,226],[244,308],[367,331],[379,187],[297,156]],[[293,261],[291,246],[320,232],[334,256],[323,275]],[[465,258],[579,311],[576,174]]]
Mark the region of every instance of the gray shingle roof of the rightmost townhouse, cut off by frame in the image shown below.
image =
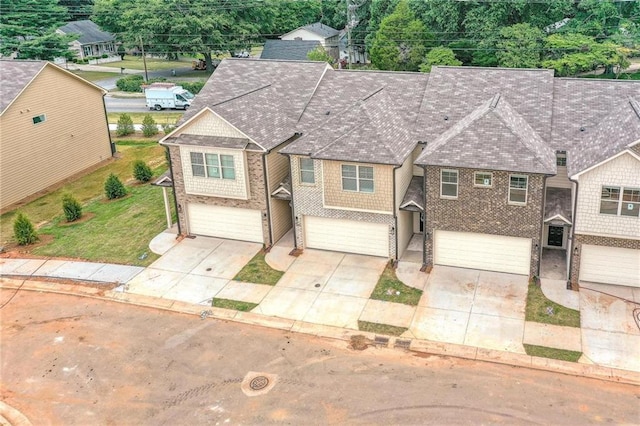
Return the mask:
[[[569,176],[640,139],[640,119],[632,107],[633,99],[640,100],[638,82],[556,80],[551,143],[567,151]]]

